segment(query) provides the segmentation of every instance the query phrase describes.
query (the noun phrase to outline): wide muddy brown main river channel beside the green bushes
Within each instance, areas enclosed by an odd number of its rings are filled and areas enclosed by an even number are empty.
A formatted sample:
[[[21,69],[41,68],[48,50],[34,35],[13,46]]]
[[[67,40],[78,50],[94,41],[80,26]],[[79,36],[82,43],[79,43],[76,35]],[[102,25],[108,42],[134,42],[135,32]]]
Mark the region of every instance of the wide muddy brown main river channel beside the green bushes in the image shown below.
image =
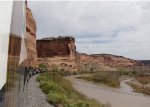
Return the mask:
[[[94,98],[104,104],[110,103],[112,107],[150,107],[150,97],[131,93],[132,89],[113,90],[84,80],[76,79],[74,76],[67,77],[76,90],[89,98]],[[125,82],[125,81],[124,81]],[[123,85],[124,83],[122,83]],[[123,86],[124,87],[124,86]]]

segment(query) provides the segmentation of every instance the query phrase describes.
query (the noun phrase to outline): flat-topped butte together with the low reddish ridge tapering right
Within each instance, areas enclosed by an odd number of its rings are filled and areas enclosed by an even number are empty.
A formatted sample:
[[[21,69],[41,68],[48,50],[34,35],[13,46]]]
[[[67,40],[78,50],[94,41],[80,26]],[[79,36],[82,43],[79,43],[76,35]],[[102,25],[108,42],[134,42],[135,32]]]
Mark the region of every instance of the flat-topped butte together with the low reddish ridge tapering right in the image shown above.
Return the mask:
[[[142,66],[143,63],[123,56],[110,54],[84,54],[76,51],[73,37],[43,38],[37,40],[39,63],[59,65],[70,71],[77,69],[101,69],[114,71],[117,67]],[[45,61],[44,61],[44,60]],[[84,69],[85,70],[85,69]]]

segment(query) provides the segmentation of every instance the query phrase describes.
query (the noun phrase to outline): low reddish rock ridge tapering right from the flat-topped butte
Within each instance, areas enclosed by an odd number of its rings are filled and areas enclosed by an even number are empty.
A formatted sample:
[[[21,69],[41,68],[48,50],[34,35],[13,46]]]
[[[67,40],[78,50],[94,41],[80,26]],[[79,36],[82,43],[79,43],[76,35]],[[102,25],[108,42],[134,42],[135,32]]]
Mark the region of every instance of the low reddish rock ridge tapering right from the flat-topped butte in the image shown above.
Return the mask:
[[[109,67],[132,67],[142,66],[143,63],[133,59],[125,58],[123,56],[111,55],[111,54],[78,54],[79,62],[95,62],[99,65]]]

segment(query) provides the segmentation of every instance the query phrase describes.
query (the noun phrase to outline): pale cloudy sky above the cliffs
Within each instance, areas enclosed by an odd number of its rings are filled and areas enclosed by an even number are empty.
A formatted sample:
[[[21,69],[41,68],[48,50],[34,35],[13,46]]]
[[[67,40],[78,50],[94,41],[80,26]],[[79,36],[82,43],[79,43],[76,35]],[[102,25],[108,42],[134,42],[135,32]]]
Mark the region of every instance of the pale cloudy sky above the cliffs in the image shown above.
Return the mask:
[[[73,36],[77,51],[150,59],[150,2],[30,1],[37,38]]]

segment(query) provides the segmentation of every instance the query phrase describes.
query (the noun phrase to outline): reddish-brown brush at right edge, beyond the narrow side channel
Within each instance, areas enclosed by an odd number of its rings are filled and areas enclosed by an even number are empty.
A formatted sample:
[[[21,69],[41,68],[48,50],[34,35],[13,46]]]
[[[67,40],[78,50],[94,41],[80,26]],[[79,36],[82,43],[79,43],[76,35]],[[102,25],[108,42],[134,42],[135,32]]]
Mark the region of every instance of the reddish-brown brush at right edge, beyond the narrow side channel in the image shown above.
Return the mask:
[[[128,83],[136,92],[150,95],[150,87],[147,86],[147,84],[150,84],[150,76],[147,72],[146,68],[118,69],[120,76],[128,75],[134,77],[141,84]]]

